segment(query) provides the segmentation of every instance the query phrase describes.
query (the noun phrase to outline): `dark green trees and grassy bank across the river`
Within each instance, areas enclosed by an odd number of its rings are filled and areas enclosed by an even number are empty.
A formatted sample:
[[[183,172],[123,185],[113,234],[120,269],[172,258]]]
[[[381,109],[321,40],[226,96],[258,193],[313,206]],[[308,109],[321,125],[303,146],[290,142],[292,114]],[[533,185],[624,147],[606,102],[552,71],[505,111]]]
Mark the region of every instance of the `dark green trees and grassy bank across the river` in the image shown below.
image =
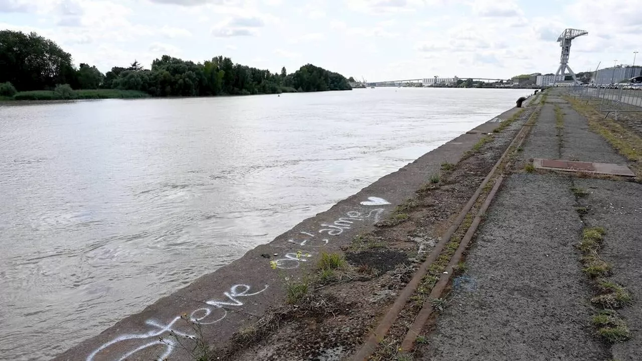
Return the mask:
[[[234,64],[227,57],[202,63],[163,55],[150,69],[134,61],[103,73],[72,57],[37,33],[0,31],[0,99],[52,100],[216,96],[351,90],[347,79],[306,64],[288,74]]]

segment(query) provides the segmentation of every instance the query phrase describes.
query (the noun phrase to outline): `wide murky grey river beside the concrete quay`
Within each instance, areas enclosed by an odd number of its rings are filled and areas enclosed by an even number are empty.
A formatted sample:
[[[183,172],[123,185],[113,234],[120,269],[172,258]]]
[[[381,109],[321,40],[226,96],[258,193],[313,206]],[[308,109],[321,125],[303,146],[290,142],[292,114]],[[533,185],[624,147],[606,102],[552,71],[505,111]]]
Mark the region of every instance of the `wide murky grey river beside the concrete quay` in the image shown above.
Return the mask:
[[[529,93],[0,103],[0,359],[53,357]]]

